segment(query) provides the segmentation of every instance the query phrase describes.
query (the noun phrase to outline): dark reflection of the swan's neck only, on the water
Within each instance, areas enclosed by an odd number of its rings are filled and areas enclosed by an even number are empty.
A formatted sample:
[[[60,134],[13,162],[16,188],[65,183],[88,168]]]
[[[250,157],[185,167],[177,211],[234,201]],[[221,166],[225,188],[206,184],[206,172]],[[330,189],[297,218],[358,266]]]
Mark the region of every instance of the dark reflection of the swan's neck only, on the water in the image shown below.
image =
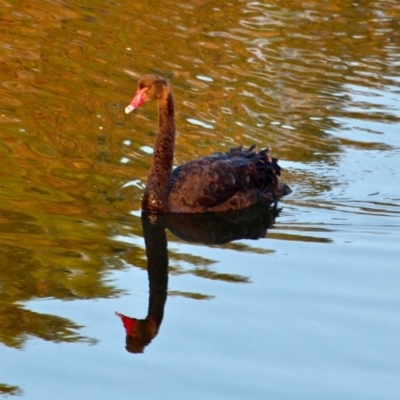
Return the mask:
[[[152,222],[148,214],[143,214],[142,225],[147,254],[149,275],[149,309],[146,319],[160,326],[164,316],[164,306],[168,289],[168,249],[164,226]]]

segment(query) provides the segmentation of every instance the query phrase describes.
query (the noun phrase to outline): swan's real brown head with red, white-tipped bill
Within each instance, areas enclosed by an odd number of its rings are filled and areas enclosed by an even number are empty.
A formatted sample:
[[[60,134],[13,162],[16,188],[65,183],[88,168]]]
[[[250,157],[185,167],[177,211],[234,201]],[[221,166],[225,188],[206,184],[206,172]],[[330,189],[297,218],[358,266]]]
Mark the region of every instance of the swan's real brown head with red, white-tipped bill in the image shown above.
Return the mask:
[[[168,83],[161,76],[142,76],[139,80],[138,89],[133,96],[132,101],[125,108],[125,113],[129,114],[131,111],[135,110],[146,101],[161,100],[166,96],[168,91]]]

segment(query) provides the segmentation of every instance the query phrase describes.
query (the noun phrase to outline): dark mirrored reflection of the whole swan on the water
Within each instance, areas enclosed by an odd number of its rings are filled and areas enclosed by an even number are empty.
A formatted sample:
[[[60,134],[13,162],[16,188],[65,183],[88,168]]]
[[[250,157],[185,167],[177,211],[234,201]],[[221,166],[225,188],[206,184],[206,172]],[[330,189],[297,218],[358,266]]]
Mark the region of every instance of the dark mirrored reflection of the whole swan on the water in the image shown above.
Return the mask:
[[[144,319],[116,312],[126,330],[126,350],[142,353],[157,336],[164,316],[168,293],[168,248],[166,229],[178,238],[192,243],[222,245],[239,239],[265,237],[279,214],[274,207],[256,205],[243,210],[210,214],[142,213],[149,277],[149,307]]]

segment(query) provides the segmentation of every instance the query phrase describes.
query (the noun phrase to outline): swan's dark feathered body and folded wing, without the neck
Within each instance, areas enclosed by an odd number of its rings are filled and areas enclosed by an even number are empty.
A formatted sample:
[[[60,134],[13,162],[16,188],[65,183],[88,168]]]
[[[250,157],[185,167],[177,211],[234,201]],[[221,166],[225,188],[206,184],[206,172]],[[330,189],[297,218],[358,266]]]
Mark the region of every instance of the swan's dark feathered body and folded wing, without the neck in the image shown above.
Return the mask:
[[[176,168],[169,186],[171,212],[220,212],[245,208],[273,192],[279,167],[265,153],[217,153]],[[264,197],[264,199],[263,199]]]

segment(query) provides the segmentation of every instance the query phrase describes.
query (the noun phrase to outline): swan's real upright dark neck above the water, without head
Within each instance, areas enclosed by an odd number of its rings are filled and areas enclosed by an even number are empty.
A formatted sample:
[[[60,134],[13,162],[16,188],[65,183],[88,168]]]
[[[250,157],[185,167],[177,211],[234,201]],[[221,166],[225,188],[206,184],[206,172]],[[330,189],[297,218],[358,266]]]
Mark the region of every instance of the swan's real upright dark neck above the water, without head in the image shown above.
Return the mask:
[[[175,148],[175,111],[172,91],[158,101],[158,133],[154,155],[147,176],[142,209],[150,212],[168,211],[168,183]]]

